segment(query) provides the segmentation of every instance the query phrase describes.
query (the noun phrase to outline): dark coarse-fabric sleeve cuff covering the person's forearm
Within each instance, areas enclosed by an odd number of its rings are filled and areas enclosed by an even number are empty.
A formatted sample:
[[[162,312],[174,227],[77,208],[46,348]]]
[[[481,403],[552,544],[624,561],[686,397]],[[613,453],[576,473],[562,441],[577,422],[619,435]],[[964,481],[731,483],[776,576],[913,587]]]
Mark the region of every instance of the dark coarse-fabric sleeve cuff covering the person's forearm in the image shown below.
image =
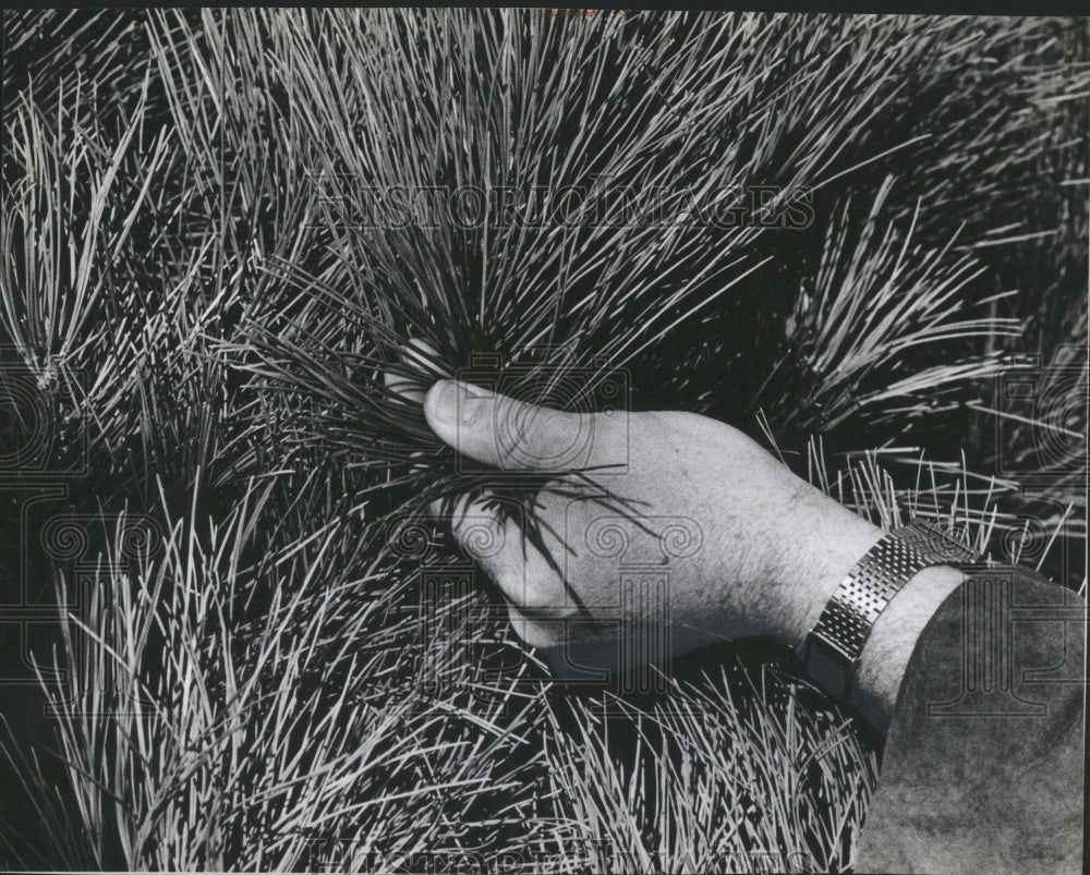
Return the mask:
[[[977,570],[901,682],[856,871],[1082,868],[1086,603]]]

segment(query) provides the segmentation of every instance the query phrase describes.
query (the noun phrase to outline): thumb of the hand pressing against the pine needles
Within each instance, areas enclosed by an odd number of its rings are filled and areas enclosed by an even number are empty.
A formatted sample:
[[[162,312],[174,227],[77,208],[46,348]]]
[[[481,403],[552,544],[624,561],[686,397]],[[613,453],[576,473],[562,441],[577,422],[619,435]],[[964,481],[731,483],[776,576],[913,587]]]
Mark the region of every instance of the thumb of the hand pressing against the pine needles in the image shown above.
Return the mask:
[[[458,380],[439,380],[424,399],[427,424],[460,453],[508,471],[561,471],[589,464],[593,421],[588,415],[496,394]]]

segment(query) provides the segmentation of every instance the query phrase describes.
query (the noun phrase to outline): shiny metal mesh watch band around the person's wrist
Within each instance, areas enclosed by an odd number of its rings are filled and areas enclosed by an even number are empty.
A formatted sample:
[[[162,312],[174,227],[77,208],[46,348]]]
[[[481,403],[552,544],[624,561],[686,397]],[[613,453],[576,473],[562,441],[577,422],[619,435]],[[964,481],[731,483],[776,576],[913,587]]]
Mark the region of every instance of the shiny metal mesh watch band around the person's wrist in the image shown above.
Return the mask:
[[[923,520],[886,534],[848,572],[807,635],[802,659],[810,677],[847,702],[863,645],[889,600],[925,568],[978,558]]]

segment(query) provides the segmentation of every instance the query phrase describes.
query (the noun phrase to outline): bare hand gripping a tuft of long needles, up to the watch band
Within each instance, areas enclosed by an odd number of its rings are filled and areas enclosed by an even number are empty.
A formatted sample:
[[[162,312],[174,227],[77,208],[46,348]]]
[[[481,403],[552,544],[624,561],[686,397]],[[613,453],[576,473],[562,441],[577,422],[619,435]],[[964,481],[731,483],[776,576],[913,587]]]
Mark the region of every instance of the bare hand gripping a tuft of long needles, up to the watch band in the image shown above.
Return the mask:
[[[497,469],[556,470],[582,436],[583,465],[623,472],[589,476],[627,510],[588,499],[570,475],[541,491],[536,515],[555,562],[494,505],[457,508],[455,535],[505,593],[516,631],[538,647],[608,644],[621,634],[618,620],[629,629],[662,622],[646,599],[621,608],[622,572],[656,568],[668,573],[674,652],[753,635],[797,647],[882,534],[704,416],[561,413],[451,380],[431,388],[424,412],[440,439]]]

